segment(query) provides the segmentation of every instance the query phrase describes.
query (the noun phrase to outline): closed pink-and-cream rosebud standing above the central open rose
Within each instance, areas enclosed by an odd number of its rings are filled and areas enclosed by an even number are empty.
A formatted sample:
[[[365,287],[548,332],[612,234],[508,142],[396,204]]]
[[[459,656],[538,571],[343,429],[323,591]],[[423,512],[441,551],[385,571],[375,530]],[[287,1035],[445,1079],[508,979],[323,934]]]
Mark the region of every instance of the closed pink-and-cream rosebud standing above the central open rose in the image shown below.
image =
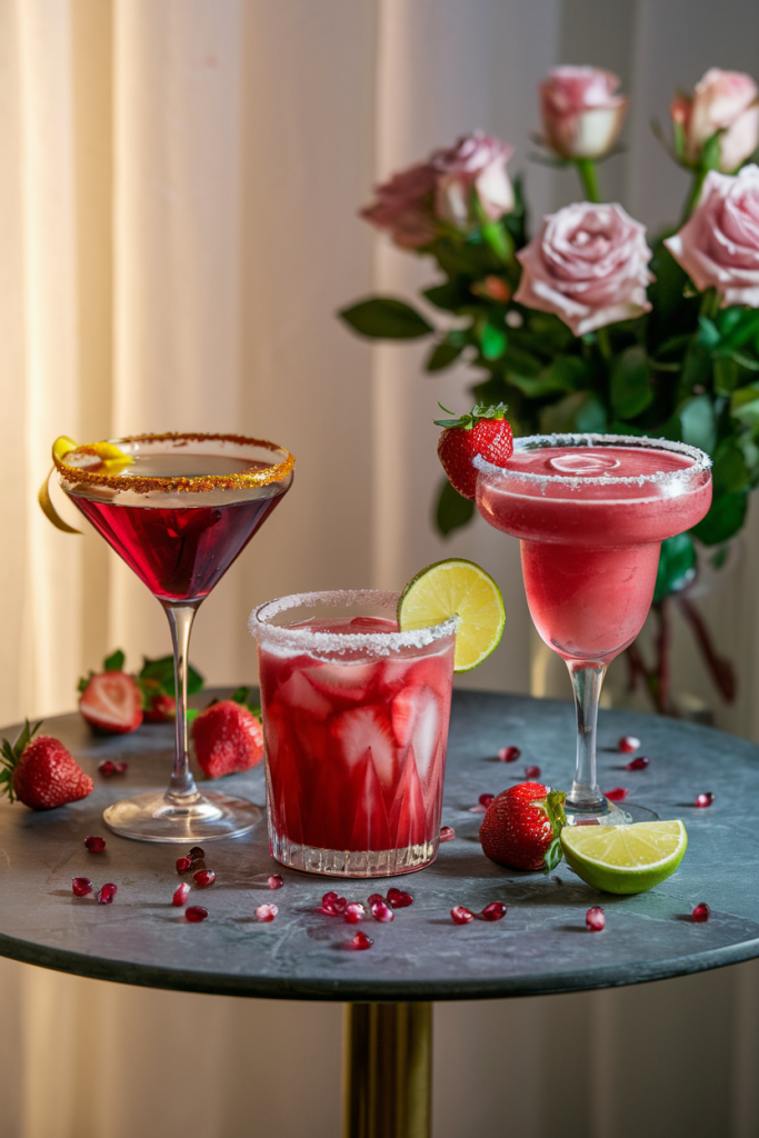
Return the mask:
[[[554,67],[541,83],[545,143],[562,158],[597,158],[617,141],[629,99],[599,67]]]

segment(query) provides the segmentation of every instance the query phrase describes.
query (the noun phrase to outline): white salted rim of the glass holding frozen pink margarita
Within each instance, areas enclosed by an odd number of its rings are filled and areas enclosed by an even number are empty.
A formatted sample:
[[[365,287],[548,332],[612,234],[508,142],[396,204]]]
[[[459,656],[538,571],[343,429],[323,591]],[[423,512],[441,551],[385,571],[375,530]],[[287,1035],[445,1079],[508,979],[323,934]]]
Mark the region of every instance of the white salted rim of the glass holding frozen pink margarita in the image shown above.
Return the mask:
[[[674,443],[668,438],[650,438],[647,435],[595,435],[595,434],[554,434],[554,435],[527,435],[523,438],[514,439],[514,452],[533,450],[545,450],[554,446],[581,446],[592,447],[599,444],[604,446],[626,446],[630,450],[641,451],[671,451],[693,459],[693,464],[684,467],[682,470],[657,470],[651,475],[584,475],[581,471],[566,475],[537,475],[527,470],[510,470],[508,467],[495,467],[481,455],[476,455],[473,463],[484,475],[500,475],[503,478],[520,483],[533,483],[537,486],[547,487],[550,485],[568,486],[578,489],[581,486],[644,486],[651,483],[686,481],[694,475],[701,475],[711,467],[711,459],[698,446],[688,443]]]

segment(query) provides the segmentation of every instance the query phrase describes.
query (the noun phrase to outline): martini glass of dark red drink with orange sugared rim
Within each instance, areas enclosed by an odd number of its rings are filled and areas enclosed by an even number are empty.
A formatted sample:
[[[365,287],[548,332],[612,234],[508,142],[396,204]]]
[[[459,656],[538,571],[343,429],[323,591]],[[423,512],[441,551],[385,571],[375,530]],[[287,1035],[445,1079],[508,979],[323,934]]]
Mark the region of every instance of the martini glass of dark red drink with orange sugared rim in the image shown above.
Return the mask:
[[[262,809],[216,791],[200,793],[190,773],[190,632],[200,603],[290,488],[295,459],[272,443],[236,435],[139,435],[77,447],[55,461],[72,502],[163,605],[174,648],[176,737],[168,790],[109,806],[106,824],[152,842],[245,833]]]

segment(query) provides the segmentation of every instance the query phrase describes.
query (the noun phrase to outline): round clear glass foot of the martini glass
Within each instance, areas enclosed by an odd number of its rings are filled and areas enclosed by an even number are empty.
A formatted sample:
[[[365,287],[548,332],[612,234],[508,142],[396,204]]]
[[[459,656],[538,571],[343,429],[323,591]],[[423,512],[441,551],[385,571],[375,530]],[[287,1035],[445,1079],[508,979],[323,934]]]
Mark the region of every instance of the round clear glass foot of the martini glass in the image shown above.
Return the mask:
[[[104,810],[109,830],[140,842],[207,842],[246,834],[264,816],[259,806],[244,798],[211,791],[178,806],[160,791],[122,799]]]

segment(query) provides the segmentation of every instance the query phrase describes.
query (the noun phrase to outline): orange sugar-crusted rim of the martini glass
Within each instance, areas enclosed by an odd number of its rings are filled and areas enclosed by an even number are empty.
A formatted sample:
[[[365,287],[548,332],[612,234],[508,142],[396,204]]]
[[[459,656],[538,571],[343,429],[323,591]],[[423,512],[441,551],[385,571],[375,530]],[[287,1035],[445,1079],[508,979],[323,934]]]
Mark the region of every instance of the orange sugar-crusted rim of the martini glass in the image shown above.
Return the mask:
[[[148,477],[124,478],[123,470],[131,464],[131,455],[122,452],[122,460],[113,455],[107,455],[106,448],[113,447],[119,451],[123,445],[140,443],[231,443],[233,446],[259,446],[281,455],[281,461],[265,467],[262,470],[241,471],[231,475],[201,475],[198,478],[176,477],[168,478],[158,475]],[[69,454],[81,453],[92,455],[99,460],[97,464],[88,467],[71,465],[65,461]],[[107,456],[106,456],[107,455]],[[271,483],[282,481],[295,465],[295,455],[290,454],[283,446],[270,443],[264,438],[249,438],[246,435],[211,435],[184,431],[166,431],[163,435],[129,435],[124,438],[107,439],[101,443],[82,443],[71,447],[63,453],[53,446],[52,461],[56,470],[67,481],[74,484],[86,484],[89,486],[107,486],[112,489],[129,489],[134,494],[149,494],[158,490],[163,493],[192,493],[207,494],[214,489],[251,489],[257,486],[269,486]]]

